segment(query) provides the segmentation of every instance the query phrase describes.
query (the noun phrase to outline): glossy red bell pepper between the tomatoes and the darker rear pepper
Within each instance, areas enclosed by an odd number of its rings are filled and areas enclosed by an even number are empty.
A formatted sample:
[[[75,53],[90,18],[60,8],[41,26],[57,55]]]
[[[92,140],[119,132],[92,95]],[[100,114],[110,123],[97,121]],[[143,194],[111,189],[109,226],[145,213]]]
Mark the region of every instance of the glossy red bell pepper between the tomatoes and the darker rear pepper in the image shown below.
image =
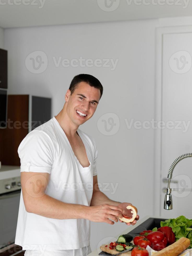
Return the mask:
[[[167,238],[160,231],[154,231],[147,235],[147,239],[151,242],[151,248],[160,251],[167,246]]]

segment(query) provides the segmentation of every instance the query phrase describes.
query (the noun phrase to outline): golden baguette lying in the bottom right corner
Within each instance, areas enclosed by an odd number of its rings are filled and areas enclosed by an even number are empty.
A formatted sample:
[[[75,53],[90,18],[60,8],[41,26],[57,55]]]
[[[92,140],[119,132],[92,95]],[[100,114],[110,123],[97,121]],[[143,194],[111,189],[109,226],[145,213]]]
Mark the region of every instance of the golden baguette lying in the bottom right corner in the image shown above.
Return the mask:
[[[190,240],[185,237],[179,238],[177,242],[167,246],[161,251],[154,253],[154,256],[177,256],[190,246]]]

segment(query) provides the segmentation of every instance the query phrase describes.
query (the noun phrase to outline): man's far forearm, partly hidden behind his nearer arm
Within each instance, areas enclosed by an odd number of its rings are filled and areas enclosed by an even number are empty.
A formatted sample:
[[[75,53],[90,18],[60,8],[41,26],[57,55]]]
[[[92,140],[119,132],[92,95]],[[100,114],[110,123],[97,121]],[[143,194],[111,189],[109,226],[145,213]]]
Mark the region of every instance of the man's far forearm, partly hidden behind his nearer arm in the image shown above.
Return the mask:
[[[103,192],[100,191],[97,184],[97,175],[93,176],[93,195],[90,206],[110,204],[117,206],[121,202],[110,200]]]

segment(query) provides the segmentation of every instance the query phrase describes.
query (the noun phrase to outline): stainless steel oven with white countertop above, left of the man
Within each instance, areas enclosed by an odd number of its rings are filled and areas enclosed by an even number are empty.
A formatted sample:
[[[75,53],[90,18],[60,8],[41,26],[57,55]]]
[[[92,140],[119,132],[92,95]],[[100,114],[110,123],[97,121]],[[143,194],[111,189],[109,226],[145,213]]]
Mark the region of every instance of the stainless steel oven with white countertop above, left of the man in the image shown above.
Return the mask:
[[[15,242],[21,178],[19,167],[13,168],[2,166],[0,169],[0,249]]]

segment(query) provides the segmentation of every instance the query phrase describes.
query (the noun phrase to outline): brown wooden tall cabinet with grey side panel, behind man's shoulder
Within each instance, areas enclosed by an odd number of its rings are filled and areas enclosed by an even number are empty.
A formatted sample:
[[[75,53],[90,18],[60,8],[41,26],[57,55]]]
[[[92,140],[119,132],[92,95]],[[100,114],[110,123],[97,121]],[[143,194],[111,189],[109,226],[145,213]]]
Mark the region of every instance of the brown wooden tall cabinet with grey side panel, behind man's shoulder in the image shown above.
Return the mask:
[[[18,147],[28,132],[51,119],[51,98],[8,95],[7,127],[0,129],[2,165],[20,166]]]

